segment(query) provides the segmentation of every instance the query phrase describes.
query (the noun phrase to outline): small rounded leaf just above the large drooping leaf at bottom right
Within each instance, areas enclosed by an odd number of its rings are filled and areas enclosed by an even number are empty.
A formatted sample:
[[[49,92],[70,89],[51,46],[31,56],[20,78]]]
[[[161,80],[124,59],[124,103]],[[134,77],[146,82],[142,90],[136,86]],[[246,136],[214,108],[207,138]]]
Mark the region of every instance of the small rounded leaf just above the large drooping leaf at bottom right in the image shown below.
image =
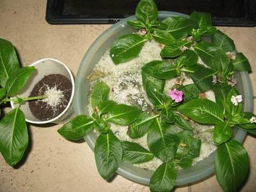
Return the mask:
[[[227,142],[232,137],[232,130],[227,122],[221,122],[214,127],[214,143],[220,145]]]

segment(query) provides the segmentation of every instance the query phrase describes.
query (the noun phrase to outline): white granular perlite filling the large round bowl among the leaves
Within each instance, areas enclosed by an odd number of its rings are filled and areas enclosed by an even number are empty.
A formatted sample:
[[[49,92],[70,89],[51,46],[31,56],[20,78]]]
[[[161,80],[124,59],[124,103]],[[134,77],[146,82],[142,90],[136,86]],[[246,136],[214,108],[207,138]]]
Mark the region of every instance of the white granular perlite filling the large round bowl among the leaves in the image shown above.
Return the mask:
[[[142,87],[141,67],[143,67],[147,62],[162,60],[160,51],[161,47],[157,42],[153,40],[147,41],[145,42],[145,45],[138,57],[131,61],[120,63],[119,65],[114,64],[109,55],[109,51],[106,51],[99,62],[95,65],[94,71],[100,72],[101,74],[100,78],[97,80],[103,81],[109,86],[111,90],[109,99],[114,100],[119,104],[136,105],[143,112],[153,114],[153,105],[147,99],[146,93]],[[167,95],[168,90],[170,90],[177,81],[180,81],[180,79],[182,79],[183,85],[193,83],[185,73],[182,73],[179,78],[166,81],[164,93]],[[91,88],[93,87],[94,82],[95,81],[91,83]],[[215,95],[212,91],[206,92],[205,96],[206,98],[215,101]],[[90,99],[88,100],[90,101]],[[89,114],[92,115],[90,103],[88,108]],[[191,125],[193,126],[194,136],[202,140],[200,157],[194,160],[194,163],[196,163],[208,157],[213,151],[215,151],[216,147],[212,142],[213,126],[202,125],[195,122]],[[146,135],[138,139],[131,139],[126,134],[127,126],[119,126],[115,124],[111,124],[111,130],[121,141],[136,142],[148,149]],[[155,170],[161,164],[161,160],[154,158],[152,161],[135,164],[135,166]]]

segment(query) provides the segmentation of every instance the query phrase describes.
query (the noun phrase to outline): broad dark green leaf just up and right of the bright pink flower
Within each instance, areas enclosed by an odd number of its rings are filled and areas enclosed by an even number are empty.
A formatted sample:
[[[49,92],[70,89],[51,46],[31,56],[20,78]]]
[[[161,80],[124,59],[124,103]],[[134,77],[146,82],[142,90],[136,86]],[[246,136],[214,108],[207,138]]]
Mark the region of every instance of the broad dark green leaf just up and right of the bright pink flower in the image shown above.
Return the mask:
[[[193,71],[194,73],[189,73],[189,76],[197,88],[201,92],[205,92],[211,89],[213,86],[212,75],[215,75],[216,72],[200,64],[193,66]]]

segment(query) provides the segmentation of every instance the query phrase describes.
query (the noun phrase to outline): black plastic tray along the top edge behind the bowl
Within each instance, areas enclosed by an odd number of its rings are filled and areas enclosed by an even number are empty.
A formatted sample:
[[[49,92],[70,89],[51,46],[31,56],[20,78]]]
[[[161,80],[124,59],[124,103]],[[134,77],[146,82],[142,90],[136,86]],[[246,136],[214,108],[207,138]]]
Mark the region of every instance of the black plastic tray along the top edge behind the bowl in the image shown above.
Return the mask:
[[[134,0],[48,0],[49,24],[114,24],[135,14]],[[208,12],[215,26],[256,26],[256,0],[162,0],[158,10]]]

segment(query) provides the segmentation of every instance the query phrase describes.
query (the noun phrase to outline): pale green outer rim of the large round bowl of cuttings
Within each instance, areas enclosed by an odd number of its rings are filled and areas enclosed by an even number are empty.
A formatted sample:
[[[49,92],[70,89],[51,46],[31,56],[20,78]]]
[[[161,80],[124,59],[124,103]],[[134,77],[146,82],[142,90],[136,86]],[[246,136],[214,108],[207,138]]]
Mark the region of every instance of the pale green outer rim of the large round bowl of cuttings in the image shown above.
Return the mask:
[[[183,16],[183,17],[188,17],[188,15],[185,15],[183,13],[177,13],[177,12],[172,12],[172,11],[159,11],[158,12],[159,17],[162,18],[166,18],[168,16]],[[102,41],[105,40],[106,37],[110,36],[111,33],[115,32],[116,28],[123,28],[124,26],[126,26],[126,20],[135,20],[135,15],[132,15],[130,17],[127,17],[123,20],[120,20],[119,22],[117,22],[116,24],[112,25],[110,28],[106,29],[103,33],[101,33],[96,40],[94,40],[93,44],[89,47],[89,49],[87,50],[86,54],[84,55],[81,64],[79,66],[78,69],[78,73],[76,75],[76,81],[75,81],[75,97],[74,97],[74,111],[76,115],[80,115],[82,114],[81,112],[81,108],[82,106],[80,105],[79,102],[79,94],[77,92],[79,92],[79,88],[81,88],[81,83],[84,82],[84,80],[81,80],[82,76],[83,76],[83,68],[84,66],[86,66],[88,64],[88,58],[91,57],[93,50],[100,46],[102,44]],[[95,63],[96,64],[96,63]],[[245,104],[244,104],[244,111],[247,112],[252,112],[252,108],[253,106],[251,105],[252,103],[252,87],[251,87],[251,83],[250,83],[250,78],[248,75],[248,72],[240,72],[241,76],[242,76],[242,86],[246,89],[245,90]],[[237,136],[235,137],[236,140],[238,140],[239,142],[243,142],[246,132],[242,131],[242,130],[238,130]],[[95,143],[95,138],[91,137],[90,134],[86,137],[84,137],[84,139],[86,140],[86,142],[88,143],[88,145],[90,146],[90,148],[92,149],[92,151],[94,150],[94,143]],[[212,153],[210,156],[214,156],[215,152]],[[195,181],[200,181],[200,180],[204,180],[206,178],[208,178],[210,175],[214,174],[214,158],[212,158],[211,164],[210,166],[208,166],[207,169],[199,169],[196,172],[193,173],[189,173],[189,171],[187,171],[187,175],[188,177],[181,177],[182,174],[180,174],[183,170],[188,170],[188,169],[182,169],[182,170],[178,170],[177,172],[177,181],[176,181],[176,186],[178,185],[184,185],[184,184],[188,184],[188,183],[192,183]],[[199,164],[199,163],[197,163]],[[193,165],[194,167],[197,166],[197,164]],[[117,173],[129,180],[135,181],[137,183],[141,183],[141,184],[145,184],[148,185],[150,183],[150,177],[153,174],[153,171],[142,171],[141,174],[137,174],[134,175],[130,168],[134,167],[132,164],[129,163],[125,163],[123,162],[120,167],[117,170]],[[134,167],[135,169],[138,167]],[[138,168],[140,169],[140,168]],[[145,174],[146,177],[144,177],[142,174]]]

